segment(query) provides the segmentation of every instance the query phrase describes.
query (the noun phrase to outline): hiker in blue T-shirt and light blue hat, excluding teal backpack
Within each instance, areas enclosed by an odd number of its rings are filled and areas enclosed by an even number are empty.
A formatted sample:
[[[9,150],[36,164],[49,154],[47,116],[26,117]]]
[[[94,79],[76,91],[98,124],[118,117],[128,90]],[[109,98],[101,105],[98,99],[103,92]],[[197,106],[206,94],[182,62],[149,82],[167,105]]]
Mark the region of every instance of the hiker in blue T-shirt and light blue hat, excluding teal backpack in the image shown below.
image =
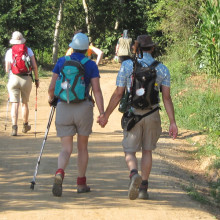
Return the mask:
[[[77,177],[77,192],[86,193],[90,191],[90,187],[86,181],[86,169],[88,164],[88,139],[92,132],[93,125],[93,100],[89,95],[90,84],[95,97],[95,101],[100,113],[104,115],[103,96],[99,84],[99,70],[94,61],[85,57],[85,53],[89,47],[88,37],[83,33],[76,34],[69,45],[74,52],[70,56],[61,57],[54,69],[51,83],[48,89],[49,104],[54,105],[56,98],[54,92],[57,92],[56,85],[59,82],[59,77],[65,60],[80,61],[85,68],[84,84],[85,86],[85,100],[78,103],[71,103],[71,91],[69,94],[69,103],[67,101],[58,100],[56,107],[56,130],[57,136],[61,140],[61,152],[58,157],[58,169],[55,173],[54,184],[52,192],[54,196],[62,195],[62,183],[65,174],[65,168],[69,162],[73,150],[73,136],[77,134],[77,150],[78,150],[78,177]],[[69,61],[68,61],[69,62]],[[67,64],[68,64],[67,62]],[[67,83],[67,82],[66,82]],[[61,85],[62,86],[62,85]],[[68,85],[67,85],[68,88]],[[76,88],[76,87],[75,87]],[[58,89],[59,90],[59,89]],[[67,89],[66,89],[67,90]],[[58,92],[62,97],[62,92]],[[64,95],[64,98],[67,95]],[[56,104],[55,104],[56,105]]]

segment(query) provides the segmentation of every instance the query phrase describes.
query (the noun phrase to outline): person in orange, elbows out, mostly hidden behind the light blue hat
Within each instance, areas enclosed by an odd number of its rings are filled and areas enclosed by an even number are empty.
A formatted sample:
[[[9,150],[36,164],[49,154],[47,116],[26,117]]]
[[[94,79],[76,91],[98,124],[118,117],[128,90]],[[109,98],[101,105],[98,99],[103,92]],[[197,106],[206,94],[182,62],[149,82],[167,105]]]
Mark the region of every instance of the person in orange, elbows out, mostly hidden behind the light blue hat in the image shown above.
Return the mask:
[[[66,52],[66,56],[69,56],[73,53],[73,48],[69,48]],[[99,48],[95,47],[93,43],[90,43],[89,48],[87,50],[86,56],[88,56],[89,59],[92,58],[92,55],[96,55],[96,65],[98,66],[100,62],[102,61],[104,53]]]

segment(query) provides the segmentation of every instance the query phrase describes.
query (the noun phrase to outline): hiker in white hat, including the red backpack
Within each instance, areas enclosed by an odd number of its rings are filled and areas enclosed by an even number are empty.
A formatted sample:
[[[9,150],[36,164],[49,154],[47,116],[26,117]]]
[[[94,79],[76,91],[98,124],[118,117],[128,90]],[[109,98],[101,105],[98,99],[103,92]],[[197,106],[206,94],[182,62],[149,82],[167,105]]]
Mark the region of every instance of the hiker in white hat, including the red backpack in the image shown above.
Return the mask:
[[[21,96],[23,133],[31,130],[28,124],[28,102],[32,89],[32,69],[35,76],[35,86],[39,87],[38,68],[31,48],[25,45],[26,39],[19,31],[12,34],[10,44],[13,45],[5,55],[5,71],[8,73],[8,93],[11,105],[12,136],[18,132],[18,109]],[[19,52],[21,50],[21,53]]]

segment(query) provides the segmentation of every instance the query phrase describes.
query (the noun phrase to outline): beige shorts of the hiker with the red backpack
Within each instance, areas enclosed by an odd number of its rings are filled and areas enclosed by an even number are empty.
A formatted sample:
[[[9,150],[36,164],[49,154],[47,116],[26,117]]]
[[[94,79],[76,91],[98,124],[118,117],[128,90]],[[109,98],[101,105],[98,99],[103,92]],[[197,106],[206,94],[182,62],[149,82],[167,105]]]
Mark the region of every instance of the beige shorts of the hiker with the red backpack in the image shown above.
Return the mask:
[[[11,73],[7,87],[10,102],[20,102],[20,97],[22,103],[26,104],[29,102],[32,89],[32,78],[30,76],[21,76]]]

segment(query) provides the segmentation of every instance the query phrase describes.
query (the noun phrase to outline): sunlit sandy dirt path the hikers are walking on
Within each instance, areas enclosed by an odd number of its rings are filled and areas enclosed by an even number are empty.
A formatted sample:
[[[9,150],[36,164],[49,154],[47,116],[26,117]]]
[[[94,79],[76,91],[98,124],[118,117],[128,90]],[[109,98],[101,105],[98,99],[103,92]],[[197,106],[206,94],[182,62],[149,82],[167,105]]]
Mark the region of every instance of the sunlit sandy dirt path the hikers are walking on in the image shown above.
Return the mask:
[[[118,68],[118,65],[100,68],[106,104],[115,88]],[[127,198],[128,171],[121,147],[121,114],[117,110],[114,111],[109,124],[104,129],[94,123],[94,133],[89,142],[90,160],[87,171],[91,193],[83,195],[76,193],[77,171],[74,148],[66,169],[63,196],[61,198],[52,196],[51,186],[60,151],[54,120],[41,158],[35,189],[30,190],[30,181],[33,178],[50,112],[47,104],[48,84],[49,79],[41,80],[38,91],[36,138],[34,136],[34,89],[30,102],[32,130],[28,134],[21,133],[21,114],[19,114],[18,136],[11,137],[10,122],[7,130],[4,130],[6,102],[0,106],[0,220],[215,219],[210,211],[191,200],[179,187],[180,177],[173,175],[169,164],[164,159],[166,155],[161,155],[161,152],[163,149],[180,146],[183,142],[181,138],[173,141],[168,138],[166,132],[158,143],[158,150],[153,154],[153,169],[149,183],[150,199],[130,201]],[[95,119],[97,115],[95,108]]]

